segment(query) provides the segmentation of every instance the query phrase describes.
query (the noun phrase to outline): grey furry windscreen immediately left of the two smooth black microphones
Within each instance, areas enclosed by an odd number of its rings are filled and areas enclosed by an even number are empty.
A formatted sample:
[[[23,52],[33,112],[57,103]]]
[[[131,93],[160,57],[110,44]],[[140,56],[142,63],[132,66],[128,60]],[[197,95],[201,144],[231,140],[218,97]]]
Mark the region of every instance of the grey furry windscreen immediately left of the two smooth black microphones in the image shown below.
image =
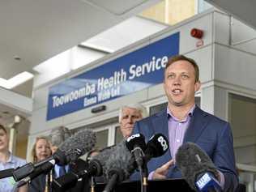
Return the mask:
[[[126,147],[126,141],[123,140],[114,148],[107,160],[104,168],[105,177],[109,180],[113,172],[122,173],[119,175],[118,181],[124,181],[130,177],[134,171],[134,158]]]

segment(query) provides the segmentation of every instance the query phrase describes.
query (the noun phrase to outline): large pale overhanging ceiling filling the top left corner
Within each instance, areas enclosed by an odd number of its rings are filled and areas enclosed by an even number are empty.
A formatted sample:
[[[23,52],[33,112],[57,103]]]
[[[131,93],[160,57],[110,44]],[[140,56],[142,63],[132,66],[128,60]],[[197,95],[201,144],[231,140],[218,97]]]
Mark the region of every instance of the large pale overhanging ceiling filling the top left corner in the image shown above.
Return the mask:
[[[0,77],[10,79],[24,70],[33,73],[33,66],[156,2],[159,1],[1,1]]]

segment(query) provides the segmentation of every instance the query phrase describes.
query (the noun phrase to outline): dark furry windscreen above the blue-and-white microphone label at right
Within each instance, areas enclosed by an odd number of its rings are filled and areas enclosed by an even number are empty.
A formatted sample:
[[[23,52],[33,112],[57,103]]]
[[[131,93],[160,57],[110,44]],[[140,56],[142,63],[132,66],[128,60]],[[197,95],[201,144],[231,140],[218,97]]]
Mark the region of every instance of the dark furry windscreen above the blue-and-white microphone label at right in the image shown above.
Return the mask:
[[[178,148],[176,165],[190,187],[197,190],[195,181],[202,173],[210,172],[218,177],[218,171],[210,157],[195,143],[185,143]]]

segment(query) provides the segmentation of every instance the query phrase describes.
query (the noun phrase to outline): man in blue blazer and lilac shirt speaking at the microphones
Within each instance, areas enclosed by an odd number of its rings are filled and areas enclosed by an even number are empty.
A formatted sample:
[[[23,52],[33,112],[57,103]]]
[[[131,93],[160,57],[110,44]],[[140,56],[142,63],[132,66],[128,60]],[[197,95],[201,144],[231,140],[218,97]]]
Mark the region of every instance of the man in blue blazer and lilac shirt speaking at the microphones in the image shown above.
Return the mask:
[[[136,122],[133,134],[143,134],[146,142],[157,133],[169,139],[170,150],[164,156],[148,162],[149,179],[180,178],[175,155],[182,143],[192,142],[210,156],[218,169],[218,180],[224,191],[234,191],[238,177],[232,130],[228,122],[195,105],[194,93],[200,85],[198,65],[193,59],[183,55],[170,58],[164,70],[164,91],[169,100],[168,107]]]

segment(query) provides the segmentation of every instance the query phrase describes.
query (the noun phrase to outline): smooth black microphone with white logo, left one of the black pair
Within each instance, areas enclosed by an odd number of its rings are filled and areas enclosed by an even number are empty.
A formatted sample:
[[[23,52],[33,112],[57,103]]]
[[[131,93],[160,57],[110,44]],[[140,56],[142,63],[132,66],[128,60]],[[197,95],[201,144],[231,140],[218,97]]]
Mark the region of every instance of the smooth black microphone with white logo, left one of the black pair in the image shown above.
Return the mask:
[[[126,147],[134,155],[135,161],[139,167],[143,167],[143,156],[146,149],[145,137],[143,134],[133,134],[126,140]]]

